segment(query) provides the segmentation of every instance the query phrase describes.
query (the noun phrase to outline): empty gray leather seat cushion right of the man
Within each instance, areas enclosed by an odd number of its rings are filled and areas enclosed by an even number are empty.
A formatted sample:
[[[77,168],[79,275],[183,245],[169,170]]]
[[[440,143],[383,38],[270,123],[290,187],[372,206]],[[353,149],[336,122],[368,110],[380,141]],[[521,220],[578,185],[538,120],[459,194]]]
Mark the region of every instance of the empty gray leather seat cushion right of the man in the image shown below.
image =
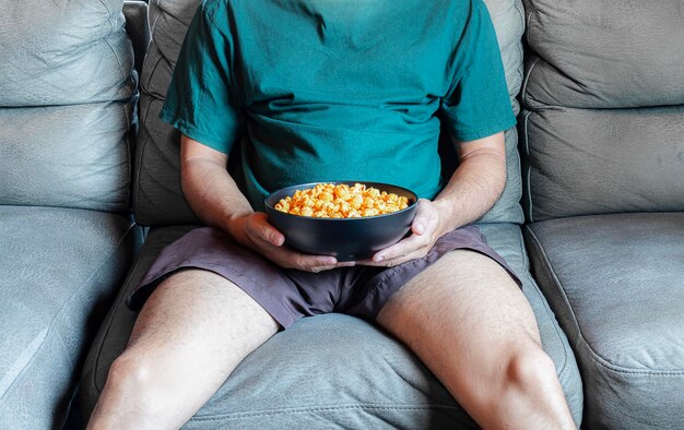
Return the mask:
[[[535,277],[579,360],[588,428],[684,428],[684,213],[526,227]]]

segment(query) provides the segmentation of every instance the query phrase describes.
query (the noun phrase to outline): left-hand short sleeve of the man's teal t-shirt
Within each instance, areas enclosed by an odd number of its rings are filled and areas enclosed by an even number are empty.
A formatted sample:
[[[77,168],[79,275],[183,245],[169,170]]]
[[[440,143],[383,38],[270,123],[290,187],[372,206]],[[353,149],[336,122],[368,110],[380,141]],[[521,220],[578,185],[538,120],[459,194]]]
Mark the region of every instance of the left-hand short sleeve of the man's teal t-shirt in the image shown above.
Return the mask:
[[[233,85],[233,41],[202,3],[182,43],[160,118],[222,153],[239,135],[240,111]]]

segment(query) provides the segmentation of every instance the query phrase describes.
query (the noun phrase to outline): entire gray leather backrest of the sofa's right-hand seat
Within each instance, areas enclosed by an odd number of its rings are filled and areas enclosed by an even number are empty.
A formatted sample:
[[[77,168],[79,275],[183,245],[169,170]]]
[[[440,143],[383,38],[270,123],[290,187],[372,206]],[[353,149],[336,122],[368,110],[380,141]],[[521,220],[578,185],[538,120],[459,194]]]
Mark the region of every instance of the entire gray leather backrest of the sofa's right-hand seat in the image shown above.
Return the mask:
[[[526,0],[530,220],[684,210],[684,5]]]

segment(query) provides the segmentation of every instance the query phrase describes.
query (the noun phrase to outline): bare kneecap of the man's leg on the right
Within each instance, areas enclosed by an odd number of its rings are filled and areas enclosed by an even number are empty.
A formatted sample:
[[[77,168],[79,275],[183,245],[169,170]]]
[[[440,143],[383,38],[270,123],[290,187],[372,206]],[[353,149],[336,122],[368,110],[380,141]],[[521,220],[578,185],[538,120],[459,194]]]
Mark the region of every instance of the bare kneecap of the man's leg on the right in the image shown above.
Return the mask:
[[[544,395],[553,390],[557,378],[553,360],[536,346],[509,357],[505,390],[528,395]]]

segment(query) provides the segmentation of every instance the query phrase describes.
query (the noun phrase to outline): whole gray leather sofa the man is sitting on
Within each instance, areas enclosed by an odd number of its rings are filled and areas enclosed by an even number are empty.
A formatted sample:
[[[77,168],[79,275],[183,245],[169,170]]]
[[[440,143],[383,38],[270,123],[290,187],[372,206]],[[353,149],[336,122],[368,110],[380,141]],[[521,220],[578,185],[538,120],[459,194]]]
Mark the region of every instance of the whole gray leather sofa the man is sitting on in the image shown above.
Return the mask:
[[[134,323],[130,288],[198,223],[180,193],[178,135],[157,114],[199,0],[151,0],[139,115],[120,0],[4,3],[0,428],[59,428],[91,335],[99,325],[82,366],[85,417]],[[134,22],[142,5],[127,3]],[[485,3],[523,109],[506,133],[506,190],[481,228],[523,279],[578,425],[684,428],[684,9]],[[146,31],[131,21],[140,62]],[[134,261],[131,204],[150,227]],[[475,426],[404,347],[339,314],[278,334],[187,426],[305,427]]]

